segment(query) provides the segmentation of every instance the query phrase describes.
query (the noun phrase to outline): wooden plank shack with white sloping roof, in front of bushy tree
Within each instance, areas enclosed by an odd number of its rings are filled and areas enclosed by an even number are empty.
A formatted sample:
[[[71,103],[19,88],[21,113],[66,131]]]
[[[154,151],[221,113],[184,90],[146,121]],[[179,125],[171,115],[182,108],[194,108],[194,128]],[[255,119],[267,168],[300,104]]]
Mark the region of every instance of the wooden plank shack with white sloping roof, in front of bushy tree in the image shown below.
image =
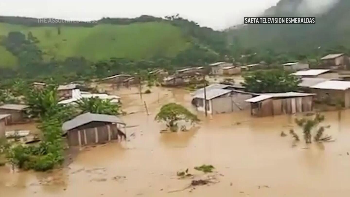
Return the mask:
[[[313,96],[299,92],[269,93],[245,101],[251,103],[252,116],[264,117],[312,111]]]

